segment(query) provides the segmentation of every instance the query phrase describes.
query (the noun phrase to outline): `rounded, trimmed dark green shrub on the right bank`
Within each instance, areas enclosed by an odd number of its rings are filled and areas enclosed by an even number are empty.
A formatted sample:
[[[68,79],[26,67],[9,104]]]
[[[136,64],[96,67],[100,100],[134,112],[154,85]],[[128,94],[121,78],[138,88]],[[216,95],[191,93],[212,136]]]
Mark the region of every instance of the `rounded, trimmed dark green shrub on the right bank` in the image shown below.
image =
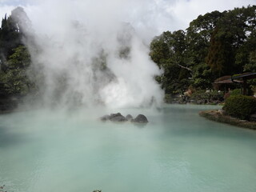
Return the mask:
[[[248,119],[250,114],[256,112],[256,98],[245,95],[231,96],[226,99],[223,109],[230,116]]]

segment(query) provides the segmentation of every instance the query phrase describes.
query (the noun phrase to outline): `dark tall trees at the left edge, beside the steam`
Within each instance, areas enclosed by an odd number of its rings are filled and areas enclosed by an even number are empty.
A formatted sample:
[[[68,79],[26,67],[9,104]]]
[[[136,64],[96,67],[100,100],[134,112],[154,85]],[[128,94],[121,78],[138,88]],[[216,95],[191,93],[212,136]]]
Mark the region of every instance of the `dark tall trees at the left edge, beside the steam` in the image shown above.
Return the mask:
[[[12,11],[10,17],[2,18],[0,28],[0,96],[25,95],[30,91],[32,82],[28,78],[30,54],[23,44],[26,38],[18,21],[26,15],[21,7]]]

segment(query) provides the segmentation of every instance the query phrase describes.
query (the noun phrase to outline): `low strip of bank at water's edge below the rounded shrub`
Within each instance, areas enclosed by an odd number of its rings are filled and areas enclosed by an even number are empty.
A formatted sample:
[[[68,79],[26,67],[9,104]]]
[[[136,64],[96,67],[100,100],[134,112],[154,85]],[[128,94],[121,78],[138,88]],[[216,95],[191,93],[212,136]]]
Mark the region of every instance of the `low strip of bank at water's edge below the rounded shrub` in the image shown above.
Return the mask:
[[[220,110],[204,110],[200,111],[199,115],[214,122],[222,122],[231,126],[239,126],[250,130],[256,130],[256,122],[233,118],[230,115],[223,114]]]

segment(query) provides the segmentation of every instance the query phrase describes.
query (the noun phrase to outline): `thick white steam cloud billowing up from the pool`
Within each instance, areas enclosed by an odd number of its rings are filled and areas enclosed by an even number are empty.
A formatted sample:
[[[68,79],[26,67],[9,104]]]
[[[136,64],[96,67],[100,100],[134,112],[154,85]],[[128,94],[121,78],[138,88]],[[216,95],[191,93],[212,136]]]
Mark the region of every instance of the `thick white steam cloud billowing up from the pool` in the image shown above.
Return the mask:
[[[45,103],[149,106],[162,102],[149,47],[124,21],[128,1],[42,1],[30,52]],[[129,3],[129,5],[131,5]],[[135,7],[134,7],[135,9]]]

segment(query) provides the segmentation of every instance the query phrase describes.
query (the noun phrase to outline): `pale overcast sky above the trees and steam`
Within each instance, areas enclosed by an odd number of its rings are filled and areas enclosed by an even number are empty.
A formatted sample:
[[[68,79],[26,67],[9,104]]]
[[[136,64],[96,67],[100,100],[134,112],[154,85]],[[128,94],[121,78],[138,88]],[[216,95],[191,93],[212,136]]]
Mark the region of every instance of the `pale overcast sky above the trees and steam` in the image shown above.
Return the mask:
[[[50,3],[60,2],[58,6],[65,6],[66,2],[79,1],[82,0],[52,0]],[[40,5],[44,2],[47,0],[0,0],[0,16],[10,14],[10,10],[15,6],[22,6],[33,22]],[[118,10],[118,17],[122,12],[120,18],[125,20],[124,22],[130,22],[136,30],[149,36],[161,34],[165,30],[186,30],[189,23],[199,14],[256,5],[256,0],[83,0],[83,2],[88,2],[86,5],[95,4],[97,7],[102,4],[102,9],[109,9],[110,12]],[[106,7],[108,6],[106,4],[110,4],[112,8]],[[54,8],[48,11],[54,11]],[[100,13],[99,11],[98,14]]]

